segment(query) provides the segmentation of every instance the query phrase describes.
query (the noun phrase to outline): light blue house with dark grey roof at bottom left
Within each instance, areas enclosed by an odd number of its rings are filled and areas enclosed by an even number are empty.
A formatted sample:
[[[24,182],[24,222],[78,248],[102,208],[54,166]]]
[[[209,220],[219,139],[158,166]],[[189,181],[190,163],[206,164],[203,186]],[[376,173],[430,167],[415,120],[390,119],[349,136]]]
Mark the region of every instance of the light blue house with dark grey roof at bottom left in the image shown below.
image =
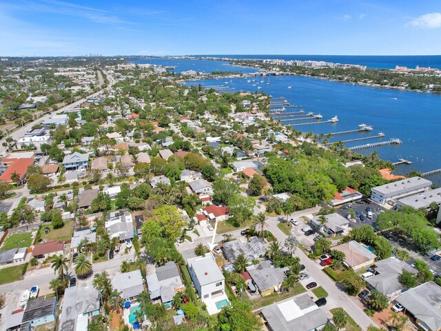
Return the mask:
[[[57,298],[43,297],[28,301],[21,321],[20,331],[33,330],[38,325],[55,321],[57,316]],[[24,324],[24,325],[23,325]]]

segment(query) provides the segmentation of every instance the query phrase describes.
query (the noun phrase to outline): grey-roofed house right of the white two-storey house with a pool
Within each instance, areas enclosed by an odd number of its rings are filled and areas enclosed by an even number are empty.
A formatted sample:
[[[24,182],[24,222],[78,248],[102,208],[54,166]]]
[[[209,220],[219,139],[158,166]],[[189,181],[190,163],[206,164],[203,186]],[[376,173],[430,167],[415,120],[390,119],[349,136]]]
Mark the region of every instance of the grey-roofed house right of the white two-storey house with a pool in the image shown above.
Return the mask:
[[[274,267],[271,261],[263,261],[258,265],[249,265],[247,272],[262,297],[279,292],[280,286],[286,278],[283,269]]]

